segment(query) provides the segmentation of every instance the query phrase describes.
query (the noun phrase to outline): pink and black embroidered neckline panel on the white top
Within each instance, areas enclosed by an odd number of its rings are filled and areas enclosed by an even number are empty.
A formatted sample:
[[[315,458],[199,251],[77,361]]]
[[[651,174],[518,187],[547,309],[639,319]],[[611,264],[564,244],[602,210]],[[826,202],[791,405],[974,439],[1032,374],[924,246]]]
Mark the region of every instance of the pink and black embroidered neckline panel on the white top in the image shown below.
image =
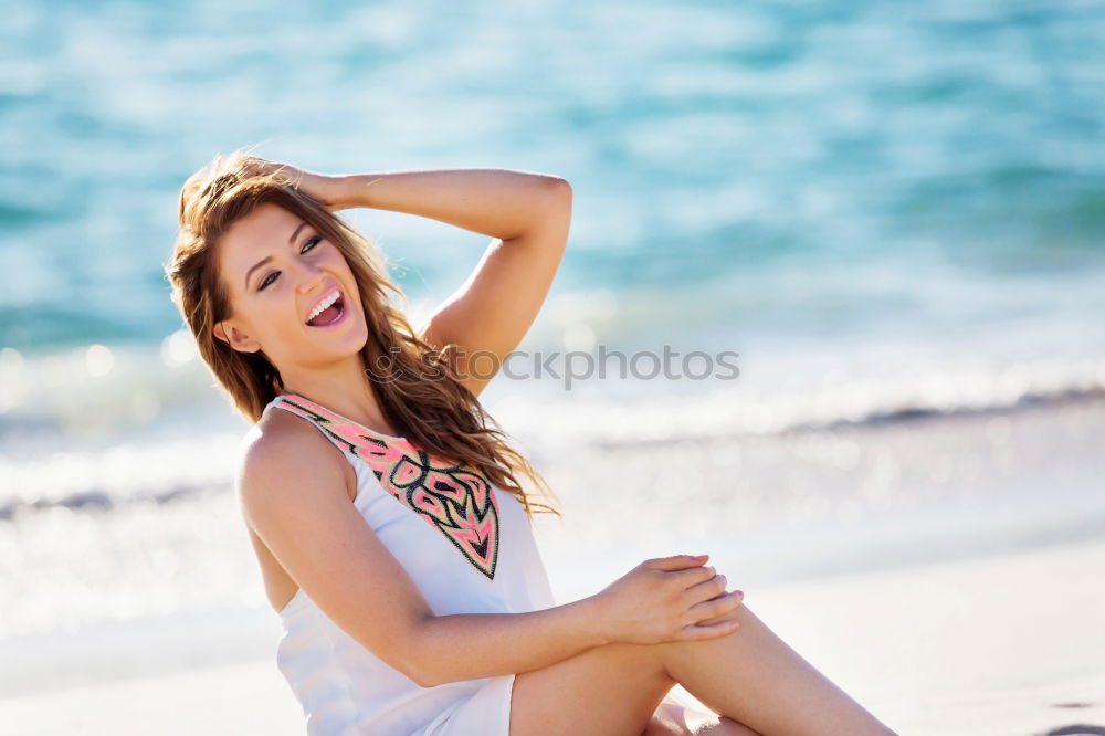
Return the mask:
[[[498,502],[475,467],[444,463],[406,438],[375,432],[302,396],[280,396],[274,406],[314,422],[337,446],[364,460],[385,491],[495,578]]]

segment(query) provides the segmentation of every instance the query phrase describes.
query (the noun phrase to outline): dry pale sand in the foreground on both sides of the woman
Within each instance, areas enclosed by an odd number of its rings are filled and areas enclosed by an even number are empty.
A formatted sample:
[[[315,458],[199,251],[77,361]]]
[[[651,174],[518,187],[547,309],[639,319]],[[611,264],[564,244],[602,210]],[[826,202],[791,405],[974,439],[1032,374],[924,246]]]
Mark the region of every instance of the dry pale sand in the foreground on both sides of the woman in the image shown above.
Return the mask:
[[[754,588],[780,637],[905,735],[1105,733],[1105,540]],[[270,661],[0,701],[21,736],[303,734]]]

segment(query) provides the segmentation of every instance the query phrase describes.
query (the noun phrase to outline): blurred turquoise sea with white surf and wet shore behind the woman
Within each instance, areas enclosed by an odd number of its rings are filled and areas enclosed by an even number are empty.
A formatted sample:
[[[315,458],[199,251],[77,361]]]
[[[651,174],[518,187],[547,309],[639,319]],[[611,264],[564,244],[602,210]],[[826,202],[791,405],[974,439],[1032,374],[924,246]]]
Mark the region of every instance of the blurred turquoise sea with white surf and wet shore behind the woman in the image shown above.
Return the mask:
[[[682,551],[711,553],[750,602],[1105,536],[1094,3],[3,14],[4,696],[275,666],[231,487],[249,425],[161,270],[185,179],[253,144],[327,174],[564,177],[568,250],[519,349],[739,355],[723,378],[501,377],[484,393],[560,496],[543,553],[561,602]],[[412,320],[488,242],[341,215],[383,249]]]

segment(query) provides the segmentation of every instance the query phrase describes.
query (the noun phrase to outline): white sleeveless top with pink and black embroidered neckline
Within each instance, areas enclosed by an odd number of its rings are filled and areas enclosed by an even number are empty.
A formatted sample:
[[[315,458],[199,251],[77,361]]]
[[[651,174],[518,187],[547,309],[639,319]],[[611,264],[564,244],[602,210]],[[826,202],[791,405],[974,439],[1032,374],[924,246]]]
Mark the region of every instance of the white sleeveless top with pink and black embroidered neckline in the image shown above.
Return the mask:
[[[435,614],[556,604],[522,504],[475,469],[441,462],[298,395],[281,395],[264,411],[272,407],[303,417],[341,450],[357,473],[354,506]],[[302,588],[280,618],[276,663],[303,706],[308,736],[508,736],[515,675],[421,687],[335,624]]]

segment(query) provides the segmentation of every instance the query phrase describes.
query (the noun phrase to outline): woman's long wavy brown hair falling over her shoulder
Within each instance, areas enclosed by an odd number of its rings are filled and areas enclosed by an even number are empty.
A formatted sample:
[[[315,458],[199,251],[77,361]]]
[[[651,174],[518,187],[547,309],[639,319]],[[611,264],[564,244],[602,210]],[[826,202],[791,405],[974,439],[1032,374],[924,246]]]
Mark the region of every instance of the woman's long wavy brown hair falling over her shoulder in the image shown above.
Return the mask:
[[[530,521],[534,511],[559,517],[559,511],[535,501],[518,483],[517,475],[524,475],[541,495],[555,497],[541,474],[507,443],[478,398],[456,379],[452,348],[457,346],[436,349],[419,339],[403,313],[386,298],[388,292],[406,296],[388,277],[382,251],[280,172],[259,172],[257,160],[241,149],[225,158],[217,155],[188,178],[180,190],[180,232],[165,264],[172,302],[238,411],[257,422],[264,407],[284,392],[283,382],[263,351],[239,351],[215,337],[214,326],[232,316],[215,249],[231,224],[271,202],[315,228],[349,264],[368,324],[361,358],[365,366],[389,366],[388,380],[369,379],[388,421],[427,452],[483,472],[519,501]],[[432,380],[425,379],[428,368]]]

